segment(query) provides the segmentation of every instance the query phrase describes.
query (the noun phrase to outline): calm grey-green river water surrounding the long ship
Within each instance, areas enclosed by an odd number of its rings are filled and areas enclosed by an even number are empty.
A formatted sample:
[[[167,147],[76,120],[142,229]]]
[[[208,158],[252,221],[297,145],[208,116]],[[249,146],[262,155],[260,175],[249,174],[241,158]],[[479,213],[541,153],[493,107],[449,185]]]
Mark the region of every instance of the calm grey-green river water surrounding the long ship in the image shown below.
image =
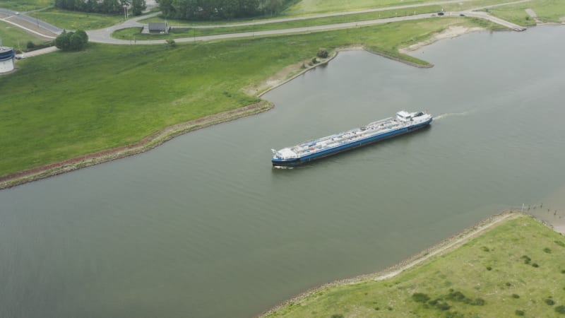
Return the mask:
[[[2,191],[0,316],[250,317],[537,204],[565,187],[564,38],[465,35],[414,52],[432,69],[340,52],[266,94],[269,112]],[[403,109],[436,120],[270,166],[270,148]]]

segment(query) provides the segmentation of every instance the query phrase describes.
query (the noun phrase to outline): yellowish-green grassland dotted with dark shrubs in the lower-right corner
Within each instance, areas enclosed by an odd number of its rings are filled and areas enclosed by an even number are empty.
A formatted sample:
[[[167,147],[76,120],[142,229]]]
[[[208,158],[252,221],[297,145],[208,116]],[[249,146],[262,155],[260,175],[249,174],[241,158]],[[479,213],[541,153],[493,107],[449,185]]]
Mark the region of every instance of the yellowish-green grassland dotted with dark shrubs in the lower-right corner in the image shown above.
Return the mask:
[[[516,315],[565,317],[565,237],[529,216],[393,278],[318,290],[268,317]]]

